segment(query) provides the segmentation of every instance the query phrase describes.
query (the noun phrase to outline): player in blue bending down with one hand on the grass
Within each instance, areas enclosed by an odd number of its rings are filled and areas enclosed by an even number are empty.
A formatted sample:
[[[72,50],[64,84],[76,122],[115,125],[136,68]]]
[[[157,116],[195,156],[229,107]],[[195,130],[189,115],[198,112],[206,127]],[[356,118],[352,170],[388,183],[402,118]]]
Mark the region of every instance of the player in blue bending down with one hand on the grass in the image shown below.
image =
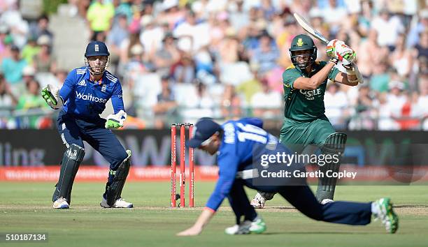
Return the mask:
[[[200,234],[214,216],[225,197],[229,200],[236,216],[236,225],[226,228],[226,234],[262,233],[266,223],[260,218],[245,193],[244,186],[262,192],[279,193],[292,206],[314,220],[347,225],[367,225],[374,216],[382,221],[387,232],[398,229],[398,218],[392,209],[389,198],[376,202],[329,202],[320,204],[306,184],[306,178],[263,179],[263,170],[278,172],[304,171],[304,165],[293,163],[284,166],[271,163],[268,167],[260,165],[263,154],[293,154],[278,142],[273,135],[266,133],[260,119],[240,119],[227,121],[221,126],[210,118],[202,118],[194,126],[194,137],[187,146],[202,149],[208,154],[217,154],[219,178],[215,190],[209,197],[206,207],[196,223],[178,236]]]

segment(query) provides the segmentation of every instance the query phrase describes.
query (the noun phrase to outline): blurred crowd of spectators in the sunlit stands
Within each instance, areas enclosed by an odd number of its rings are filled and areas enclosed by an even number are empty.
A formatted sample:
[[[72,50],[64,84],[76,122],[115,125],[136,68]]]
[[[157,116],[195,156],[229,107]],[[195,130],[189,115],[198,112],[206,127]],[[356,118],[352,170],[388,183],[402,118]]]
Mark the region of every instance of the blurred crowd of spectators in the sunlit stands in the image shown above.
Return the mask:
[[[62,84],[50,19],[24,20],[0,5],[0,128],[51,128],[39,95]],[[428,7],[418,0],[69,0],[91,40],[106,42],[108,70],[124,89],[130,128],[167,128],[199,117],[283,121],[282,73],[297,12],[357,52],[364,84],[329,83],[326,115],[338,129],[428,130]],[[89,40],[88,40],[89,41]],[[325,45],[315,40],[318,60]],[[82,52],[81,50],[76,52]],[[83,52],[82,52],[83,57]],[[83,58],[82,58],[83,61]],[[41,79],[42,78],[42,79]],[[25,121],[17,116],[26,114]],[[13,117],[10,117],[13,112]],[[19,119],[22,119],[20,117]]]

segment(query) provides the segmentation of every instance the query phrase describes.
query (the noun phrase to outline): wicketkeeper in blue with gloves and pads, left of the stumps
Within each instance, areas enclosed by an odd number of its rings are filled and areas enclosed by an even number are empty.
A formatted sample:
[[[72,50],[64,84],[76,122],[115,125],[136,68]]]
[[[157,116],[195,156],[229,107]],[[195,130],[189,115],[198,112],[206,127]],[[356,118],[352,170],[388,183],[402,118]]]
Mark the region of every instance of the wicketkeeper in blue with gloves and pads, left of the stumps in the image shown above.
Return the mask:
[[[110,130],[121,128],[127,114],[124,112],[120,81],[106,70],[109,56],[105,43],[92,41],[86,47],[86,66],[71,70],[61,89],[48,85],[41,92],[50,107],[62,108],[57,128],[67,148],[52,196],[52,207],[55,209],[69,208],[73,181],[85,156],[83,141],[110,163],[101,207],[133,207],[132,203],[121,197],[129,172],[131,151],[125,151]],[[106,109],[110,98],[114,114],[110,114],[107,120],[102,119],[99,114]]]

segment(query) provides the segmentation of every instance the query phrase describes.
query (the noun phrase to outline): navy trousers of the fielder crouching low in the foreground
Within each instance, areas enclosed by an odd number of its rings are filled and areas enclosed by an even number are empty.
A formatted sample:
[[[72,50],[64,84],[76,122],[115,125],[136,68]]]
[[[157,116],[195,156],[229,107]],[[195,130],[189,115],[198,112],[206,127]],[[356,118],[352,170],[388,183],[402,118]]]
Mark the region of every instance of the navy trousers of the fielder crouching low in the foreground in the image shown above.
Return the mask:
[[[239,223],[242,216],[248,220],[253,220],[257,216],[243,189],[243,186],[255,188],[249,183],[251,179],[236,179],[228,196],[231,208],[236,215],[236,223]],[[302,214],[314,220],[347,225],[367,225],[371,221],[371,202],[320,204],[308,186],[278,186],[276,191]]]

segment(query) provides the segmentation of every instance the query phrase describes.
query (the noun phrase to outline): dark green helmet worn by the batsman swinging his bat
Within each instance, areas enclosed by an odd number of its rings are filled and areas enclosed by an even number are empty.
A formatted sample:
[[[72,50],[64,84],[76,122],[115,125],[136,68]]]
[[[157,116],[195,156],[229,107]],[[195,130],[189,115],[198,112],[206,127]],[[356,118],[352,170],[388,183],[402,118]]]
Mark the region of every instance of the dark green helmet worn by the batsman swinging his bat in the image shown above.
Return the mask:
[[[306,56],[306,55],[294,54],[295,52],[301,51],[301,50],[311,51],[309,53],[309,59],[307,61],[304,61],[303,63],[302,62],[299,63],[299,61],[297,60],[297,57]],[[292,45],[289,51],[290,51],[290,58],[292,63],[294,64],[294,66],[297,66],[301,69],[311,66],[315,62],[315,59],[317,59],[317,47],[313,43],[312,38],[304,34],[299,34],[298,36],[293,38]]]

